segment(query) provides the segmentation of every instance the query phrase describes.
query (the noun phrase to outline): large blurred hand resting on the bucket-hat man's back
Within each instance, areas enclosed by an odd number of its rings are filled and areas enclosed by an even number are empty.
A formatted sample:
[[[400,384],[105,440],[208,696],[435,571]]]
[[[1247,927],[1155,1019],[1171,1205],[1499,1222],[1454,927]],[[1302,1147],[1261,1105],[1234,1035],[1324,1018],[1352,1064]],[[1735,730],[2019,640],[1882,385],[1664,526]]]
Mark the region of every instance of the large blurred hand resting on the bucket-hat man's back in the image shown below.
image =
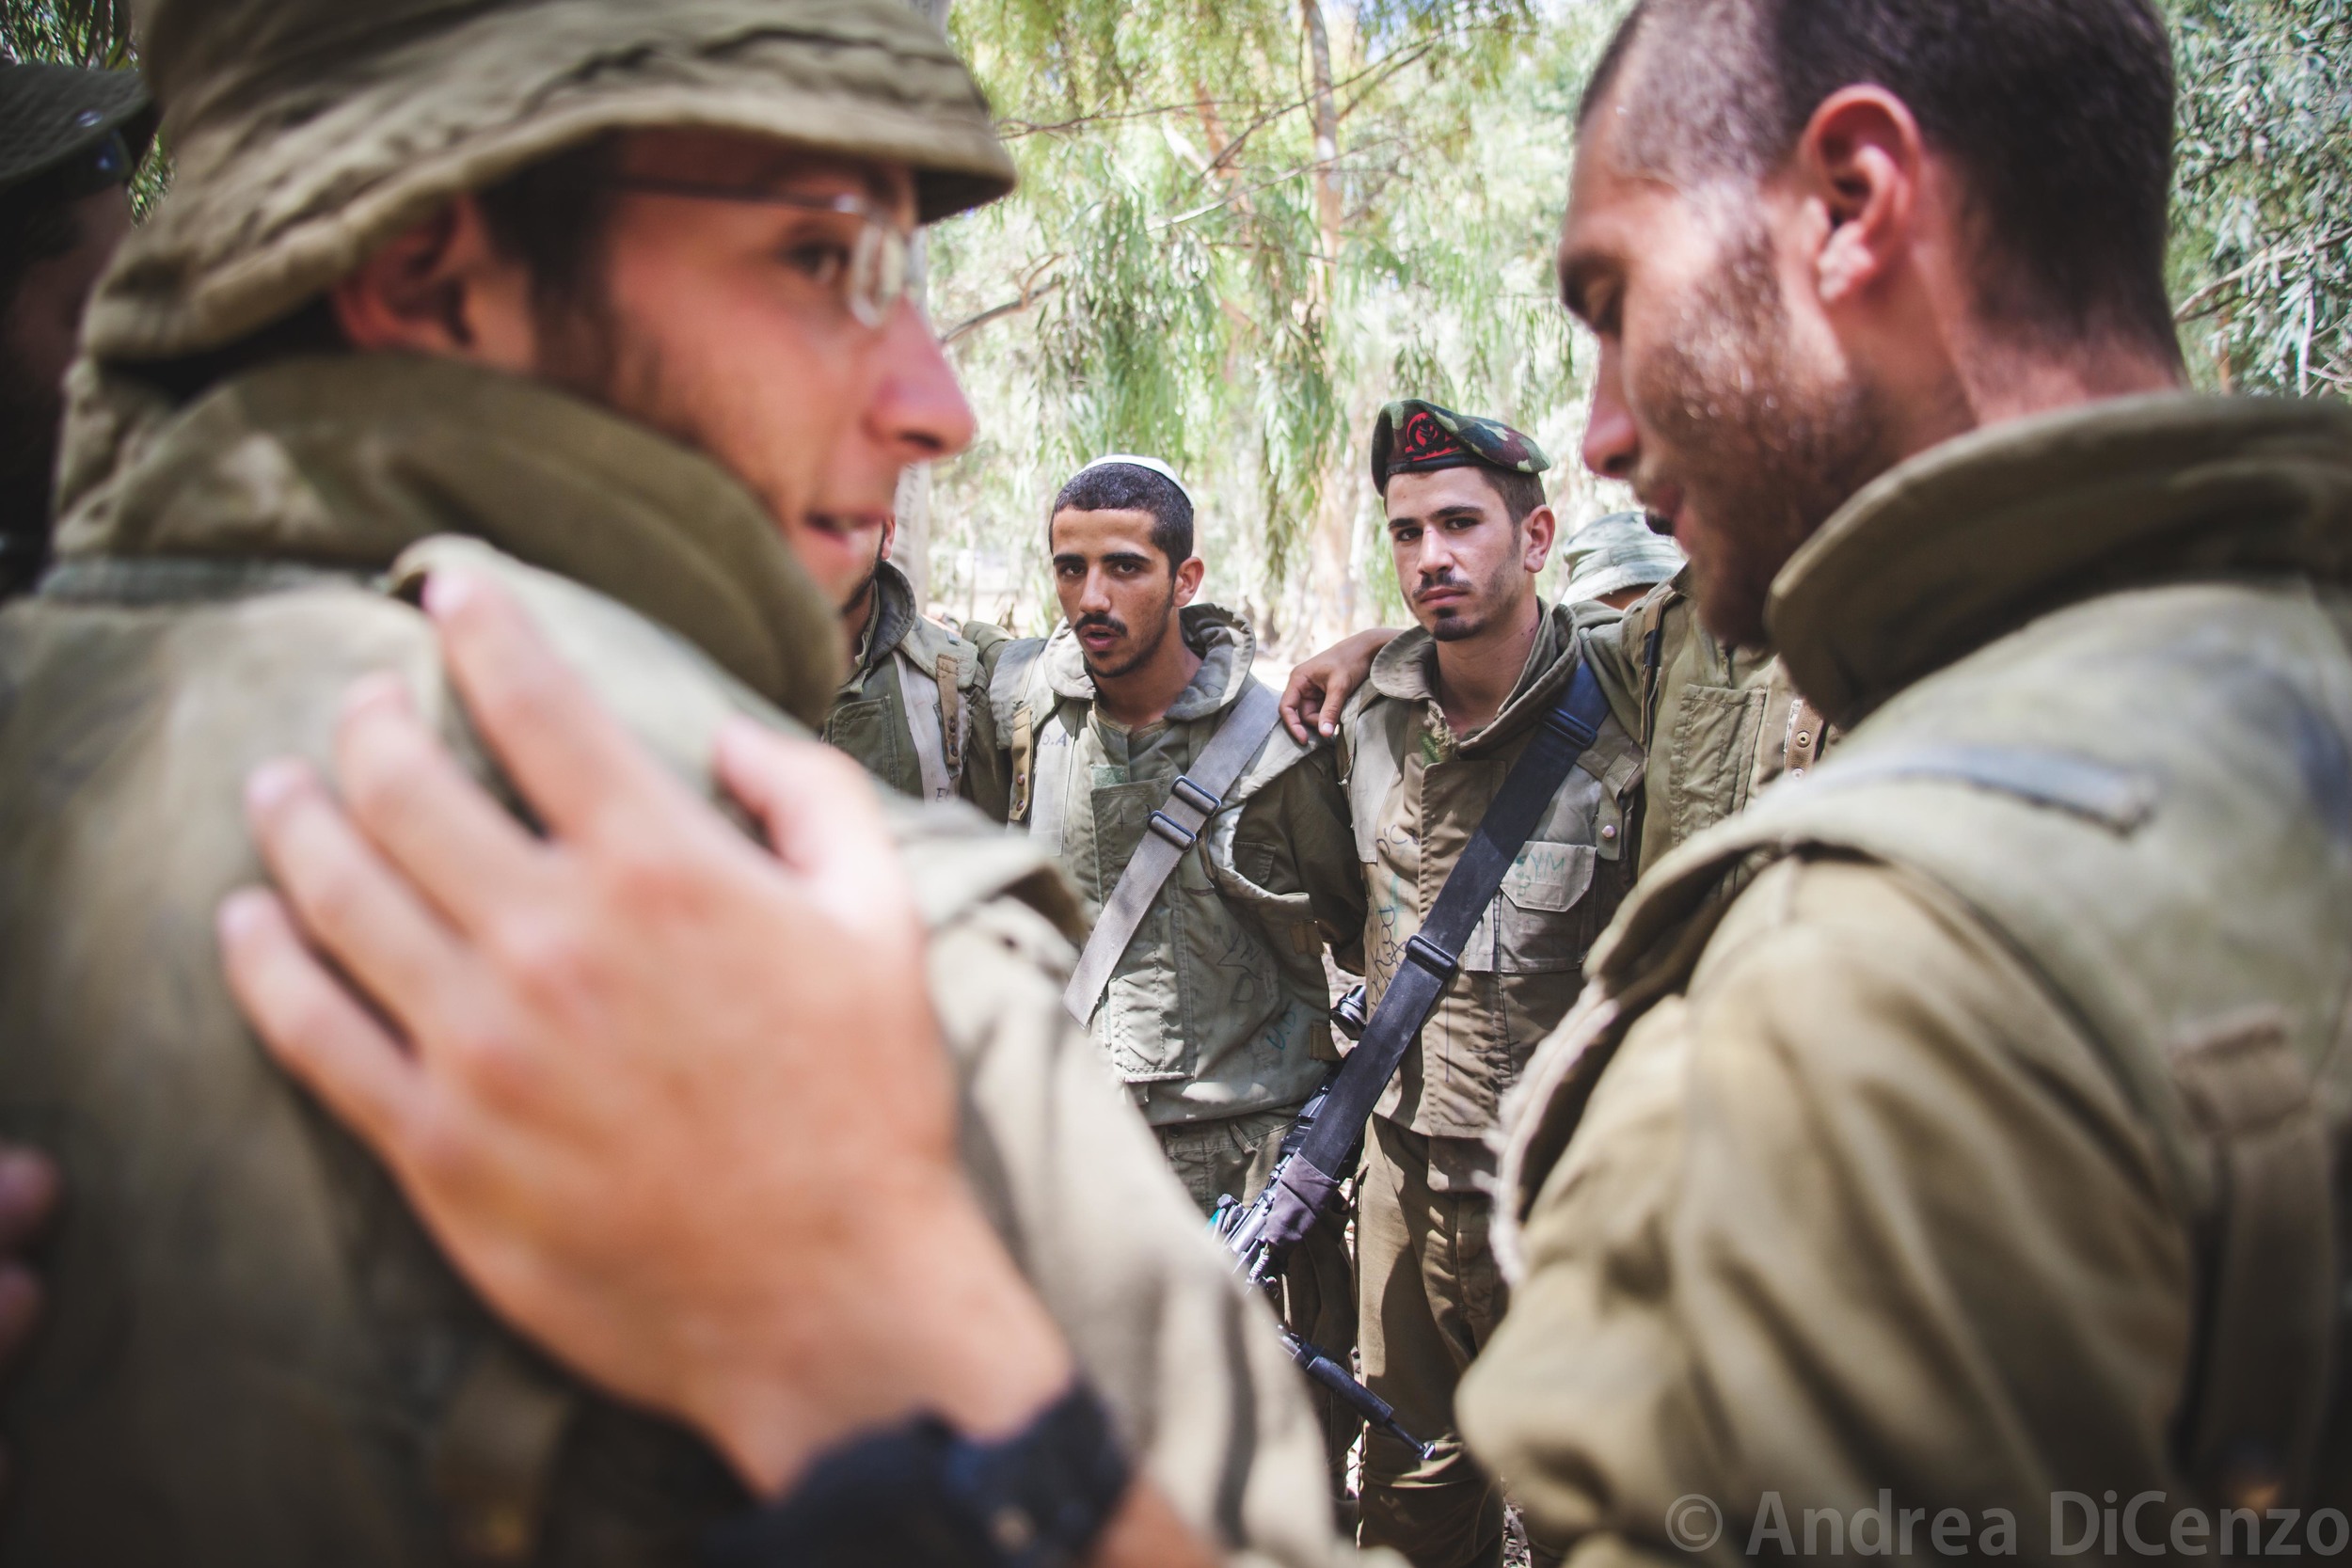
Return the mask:
[[[249,792],[282,898],[230,898],[221,940],[270,1051],[503,1314],[755,1490],[915,1408],[1018,1427],[1068,1352],[955,1161],[922,929],[863,773],[727,731],[760,849],[503,592],[440,576],[426,602],[548,835],[397,686],[358,691],[343,806],[301,764]]]

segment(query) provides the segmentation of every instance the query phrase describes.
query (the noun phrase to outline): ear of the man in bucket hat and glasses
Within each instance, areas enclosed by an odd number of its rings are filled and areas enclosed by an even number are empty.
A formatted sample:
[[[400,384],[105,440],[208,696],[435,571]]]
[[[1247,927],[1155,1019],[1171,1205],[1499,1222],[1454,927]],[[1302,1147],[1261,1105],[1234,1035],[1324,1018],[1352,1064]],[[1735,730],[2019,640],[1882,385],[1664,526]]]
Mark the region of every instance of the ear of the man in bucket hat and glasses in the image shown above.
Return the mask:
[[[470,195],[393,235],[334,284],[334,320],[353,348],[536,364],[529,270],[499,252]]]

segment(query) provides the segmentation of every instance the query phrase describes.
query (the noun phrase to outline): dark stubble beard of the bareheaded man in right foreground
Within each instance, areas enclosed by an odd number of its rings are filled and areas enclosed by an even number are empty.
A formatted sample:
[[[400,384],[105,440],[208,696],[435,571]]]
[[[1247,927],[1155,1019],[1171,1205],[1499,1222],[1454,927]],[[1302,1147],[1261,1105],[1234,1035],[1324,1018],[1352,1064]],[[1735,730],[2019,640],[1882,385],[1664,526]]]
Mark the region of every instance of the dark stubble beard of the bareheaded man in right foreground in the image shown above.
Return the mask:
[[[1684,322],[1691,331],[1658,353],[1635,395],[1665,435],[1684,494],[1691,527],[1677,541],[1691,557],[1698,618],[1719,639],[1759,649],[1773,578],[1889,468],[1889,421],[1865,381],[1802,374],[1762,223],[1726,247]]]

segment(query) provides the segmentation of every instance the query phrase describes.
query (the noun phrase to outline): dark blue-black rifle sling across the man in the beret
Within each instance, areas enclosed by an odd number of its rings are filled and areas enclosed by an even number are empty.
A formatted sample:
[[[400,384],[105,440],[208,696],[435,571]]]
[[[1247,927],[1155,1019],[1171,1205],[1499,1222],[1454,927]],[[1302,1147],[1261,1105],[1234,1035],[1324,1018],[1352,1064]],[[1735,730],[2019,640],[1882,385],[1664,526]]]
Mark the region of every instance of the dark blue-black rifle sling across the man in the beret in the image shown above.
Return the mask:
[[[1606,719],[1609,696],[1602,691],[1599,679],[1595,679],[1592,668],[1578,663],[1566,691],[1543,715],[1534,741],[1510,764],[1510,773],[1503,776],[1501,792],[1486,806],[1477,832],[1470,835],[1461,860],[1454,863],[1454,872],[1437,891],[1430,917],[1421,922],[1421,931],[1404,945],[1404,961],[1388,978],[1381,1006],[1374,1009],[1371,1023],[1364,1025],[1364,1039],[1341,1063],[1315,1114],[1315,1126],[1308,1128],[1308,1135],[1298,1143],[1298,1157],[1282,1173],[1289,1197],[1310,1206],[1310,1213],[1296,1234],[1270,1234],[1268,1239],[1277,1246],[1289,1246],[1303,1237],[1305,1227],[1312,1225],[1312,1213],[1322,1208],[1331,1190],[1355,1168],[1355,1152],[1364,1140],[1364,1124],[1371,1119],[1371,1107],[1381,1103],[1381,1091],[1388,1088],[1388,1079],[1397,1077],[1404,1053],[1421,1037],[1421,1025],[1430,1020],[1437,1001],[1454,985],[1454,976],[1461,971],[1463,943],[1470,940],[1479,914],[1486,912],[1494,896],[1503,891],[1503,875],[1510,872],[1512,860],[1519,858],[1519,849],[1536,832],[1536,823],[1543,820],[1559,785],[1566,783],[1569,769],[1599,738]],[[1296,1222],[1294,1213],[1291,1225]],[[1289,1225],[1279,1229],[1289,1229]]]

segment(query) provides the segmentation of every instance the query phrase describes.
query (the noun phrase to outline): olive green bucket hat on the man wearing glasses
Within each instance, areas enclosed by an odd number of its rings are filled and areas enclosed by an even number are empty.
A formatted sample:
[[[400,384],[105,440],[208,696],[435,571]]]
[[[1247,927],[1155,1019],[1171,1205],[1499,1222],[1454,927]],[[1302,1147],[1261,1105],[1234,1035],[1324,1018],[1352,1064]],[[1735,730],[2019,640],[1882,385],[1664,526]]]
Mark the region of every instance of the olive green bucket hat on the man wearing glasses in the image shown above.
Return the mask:
[[[141,61],[174,179],[92,301],[99,360],[235,343],[452,195],[612,129],[903,162],[924,221],[1014,183],[906,0],[146,0]]]

